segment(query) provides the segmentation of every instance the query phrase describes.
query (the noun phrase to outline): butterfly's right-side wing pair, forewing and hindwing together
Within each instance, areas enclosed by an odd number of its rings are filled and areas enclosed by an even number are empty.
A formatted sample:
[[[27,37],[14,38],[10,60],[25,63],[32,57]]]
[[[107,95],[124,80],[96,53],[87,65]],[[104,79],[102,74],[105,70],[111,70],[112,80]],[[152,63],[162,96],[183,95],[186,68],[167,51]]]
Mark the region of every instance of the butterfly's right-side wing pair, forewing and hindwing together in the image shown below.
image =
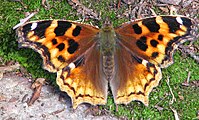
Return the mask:
[[[191,35],[192,24],[182,16],[157,16],[115,29],[117,66],[110,86],[116,104],[138,100],[148,105],[151,90],[162,78],[160,68],[173,63],[173,52]]]

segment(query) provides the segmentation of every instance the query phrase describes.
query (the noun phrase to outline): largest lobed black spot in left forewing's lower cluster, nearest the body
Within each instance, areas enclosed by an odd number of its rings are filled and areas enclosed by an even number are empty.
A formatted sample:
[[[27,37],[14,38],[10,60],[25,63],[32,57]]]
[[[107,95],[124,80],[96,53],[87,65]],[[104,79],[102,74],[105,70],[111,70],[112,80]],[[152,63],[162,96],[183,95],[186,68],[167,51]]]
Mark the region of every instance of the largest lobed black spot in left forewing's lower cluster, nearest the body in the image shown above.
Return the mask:
[[[68,40],[68,45],[68,52],[70,54],[73,54],[79,47],[79,44],[73,39]]]

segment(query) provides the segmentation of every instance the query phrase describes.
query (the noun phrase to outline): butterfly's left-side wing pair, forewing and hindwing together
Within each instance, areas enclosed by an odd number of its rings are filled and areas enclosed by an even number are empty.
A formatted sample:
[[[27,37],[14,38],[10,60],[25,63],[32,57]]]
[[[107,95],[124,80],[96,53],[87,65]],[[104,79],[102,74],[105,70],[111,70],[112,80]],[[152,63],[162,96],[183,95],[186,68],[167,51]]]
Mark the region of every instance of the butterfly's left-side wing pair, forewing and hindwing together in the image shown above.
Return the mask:
[[[26,23],[17,30],[19,46],[41,54],[44,69],[57,72],[56,82],[73,108],[87,102],[105,104],[107,80],[100,67],[97,27],[66,20]]]

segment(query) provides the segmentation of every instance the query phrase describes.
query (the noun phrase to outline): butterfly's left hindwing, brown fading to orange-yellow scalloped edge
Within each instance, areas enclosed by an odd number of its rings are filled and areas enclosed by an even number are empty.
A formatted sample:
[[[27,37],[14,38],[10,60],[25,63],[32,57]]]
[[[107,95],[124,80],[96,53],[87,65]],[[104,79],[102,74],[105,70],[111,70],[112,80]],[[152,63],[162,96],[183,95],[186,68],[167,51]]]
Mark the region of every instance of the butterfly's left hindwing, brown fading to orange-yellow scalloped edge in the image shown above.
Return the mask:
[[[102,73],[100,62],[99,47],[95,44],[82,58],[71,63],[74,68],[69,65],[58,71],[57,84],[71,97],[73,108],[85,102],[106,104],[108,81]]]

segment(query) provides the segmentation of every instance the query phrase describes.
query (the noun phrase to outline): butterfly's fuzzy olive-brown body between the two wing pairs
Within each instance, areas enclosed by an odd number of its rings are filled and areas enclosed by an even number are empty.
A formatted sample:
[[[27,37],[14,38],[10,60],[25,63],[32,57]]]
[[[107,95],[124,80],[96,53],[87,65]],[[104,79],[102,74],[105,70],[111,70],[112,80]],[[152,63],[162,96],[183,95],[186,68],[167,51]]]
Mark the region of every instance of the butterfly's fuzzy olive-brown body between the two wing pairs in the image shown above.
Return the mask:
[[[100,31],[100,51],[102,53],[103,72],[107,80],[114,76],[115,31],[111,24],[104,24]]]

